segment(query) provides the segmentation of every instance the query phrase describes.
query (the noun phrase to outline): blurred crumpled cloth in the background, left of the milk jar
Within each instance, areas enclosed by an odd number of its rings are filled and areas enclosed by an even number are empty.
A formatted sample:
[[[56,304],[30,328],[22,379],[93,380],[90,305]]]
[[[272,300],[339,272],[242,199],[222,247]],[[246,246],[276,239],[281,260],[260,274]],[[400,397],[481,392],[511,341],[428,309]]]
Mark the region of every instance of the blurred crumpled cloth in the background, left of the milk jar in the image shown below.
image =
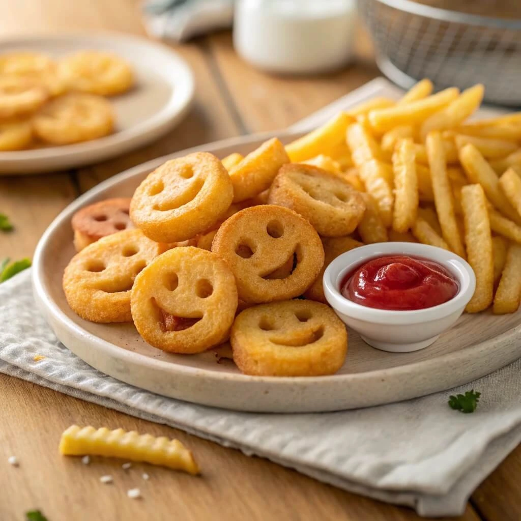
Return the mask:
[[[184,42],[231,27],[234,0],[147,0],[145,29],[155,38]]]

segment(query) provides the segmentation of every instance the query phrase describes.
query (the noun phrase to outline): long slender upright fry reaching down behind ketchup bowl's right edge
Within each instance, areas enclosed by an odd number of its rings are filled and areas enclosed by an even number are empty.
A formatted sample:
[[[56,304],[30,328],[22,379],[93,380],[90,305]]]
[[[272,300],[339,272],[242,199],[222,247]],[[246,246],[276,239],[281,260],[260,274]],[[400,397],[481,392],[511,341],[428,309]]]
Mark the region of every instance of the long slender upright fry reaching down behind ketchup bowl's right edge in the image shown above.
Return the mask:
[[[463,247],[463,241],[460,237],[454,213],[452,187],[447,173],[441,134],[437,131],[430,132],[427,135],[426,146],[429,156],[434,203],[440,221],[442,237],[454,253],[460,255],[460,257],[465,257],[465,248]]]

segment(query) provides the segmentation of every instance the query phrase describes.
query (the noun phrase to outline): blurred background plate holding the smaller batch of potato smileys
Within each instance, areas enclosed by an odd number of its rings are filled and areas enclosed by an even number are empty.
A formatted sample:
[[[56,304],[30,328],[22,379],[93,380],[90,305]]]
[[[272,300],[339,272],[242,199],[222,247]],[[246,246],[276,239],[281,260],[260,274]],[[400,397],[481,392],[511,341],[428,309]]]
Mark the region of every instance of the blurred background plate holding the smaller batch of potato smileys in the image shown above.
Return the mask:
[[[194,91],[192,72],[178,54],[162,44],[116,33],[23,36],[0,42],[0,55],[33,51],[59,58],[85,49],[116,53],[134,68],[135,88],[109,98],[116,112],[116,131],[84,143],[0,152],[0,175],[98,163],[159,138],[187,112]]]

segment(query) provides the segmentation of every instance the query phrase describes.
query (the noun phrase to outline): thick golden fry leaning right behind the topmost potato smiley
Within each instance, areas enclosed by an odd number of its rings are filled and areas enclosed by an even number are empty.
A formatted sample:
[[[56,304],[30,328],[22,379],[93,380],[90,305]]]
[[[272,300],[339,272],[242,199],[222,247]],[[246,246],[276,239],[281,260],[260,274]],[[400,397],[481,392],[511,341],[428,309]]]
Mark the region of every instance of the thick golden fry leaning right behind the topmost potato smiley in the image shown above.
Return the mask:
[[[267,190],[279,168],[289,162],[286,148],[277,138],[263,143],[230,169],[233,202],[251,199]]]

